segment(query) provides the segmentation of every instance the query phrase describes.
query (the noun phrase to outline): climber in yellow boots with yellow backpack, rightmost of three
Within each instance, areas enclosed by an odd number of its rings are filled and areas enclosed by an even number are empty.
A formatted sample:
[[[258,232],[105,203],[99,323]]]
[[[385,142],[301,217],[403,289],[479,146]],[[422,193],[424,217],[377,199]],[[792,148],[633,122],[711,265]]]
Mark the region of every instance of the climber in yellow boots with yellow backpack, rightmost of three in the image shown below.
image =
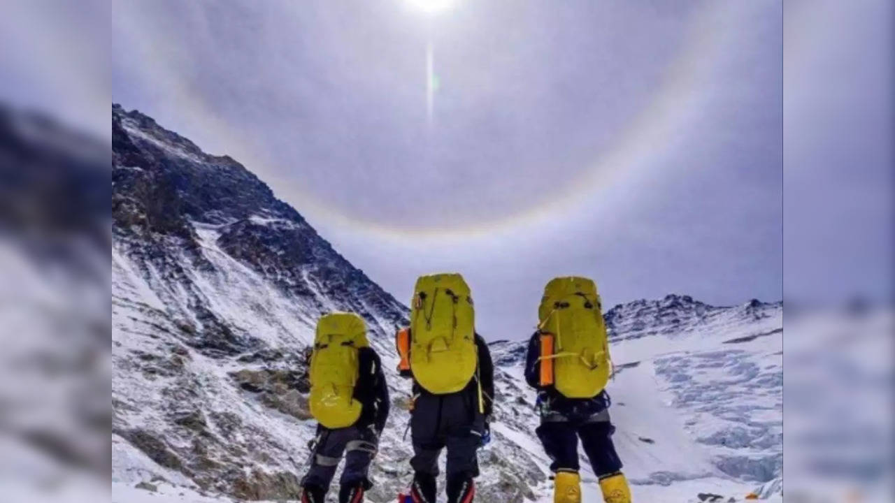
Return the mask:
[[[606,503],[630,503],[612,443],[609,341],[597,286],[585,277],[557,277],[544,288],[538,330],[529,340],[525,380],[538,390],[536,433],[552,464],[554,503],[580,503],[578,438]]]

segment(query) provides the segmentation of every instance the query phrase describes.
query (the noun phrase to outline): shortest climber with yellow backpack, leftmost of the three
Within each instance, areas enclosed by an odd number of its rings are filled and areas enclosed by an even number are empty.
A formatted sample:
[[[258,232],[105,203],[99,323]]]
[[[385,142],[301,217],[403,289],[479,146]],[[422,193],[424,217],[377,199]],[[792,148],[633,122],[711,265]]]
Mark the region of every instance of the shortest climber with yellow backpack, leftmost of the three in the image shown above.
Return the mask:
[[[360,503],[371,487],[367,473],[388,418],[388,387],[379,355],[367,342],[363,319],[351,312],[320,318],[311,353],[311,467],[302,503],[323,503],[345,453],[339,503]]]

